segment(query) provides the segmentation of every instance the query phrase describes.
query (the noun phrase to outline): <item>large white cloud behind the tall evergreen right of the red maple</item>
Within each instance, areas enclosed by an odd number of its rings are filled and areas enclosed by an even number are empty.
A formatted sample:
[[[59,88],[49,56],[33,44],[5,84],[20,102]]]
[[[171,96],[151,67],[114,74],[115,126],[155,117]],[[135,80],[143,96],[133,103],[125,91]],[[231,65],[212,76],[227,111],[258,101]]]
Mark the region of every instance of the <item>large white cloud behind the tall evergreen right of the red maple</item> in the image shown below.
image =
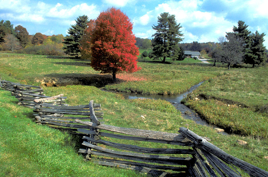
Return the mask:
[[[217,41],[217,37],[225,35],[225,32],[232,31],[234,24],[225,19],[225,14],[202,12],[200,11],[201,5],[202,1],[199,0],[167,1],[166,3],[158,4],[154,10],[146,12],[140,18],[136,18],[134,24],[135,26],[138,26],[138,24],[157,25],[157,17],[163,12],[169,12],[169,14],[175,15],[177,23],[180,23],[183,27],[180,30],[184,34],[184,43]],[[142,32],[136,33],[136,35],[139,35],[139,37],[151,37],[154,33],[155,31],[153,30],[150,31],[150,34]]]

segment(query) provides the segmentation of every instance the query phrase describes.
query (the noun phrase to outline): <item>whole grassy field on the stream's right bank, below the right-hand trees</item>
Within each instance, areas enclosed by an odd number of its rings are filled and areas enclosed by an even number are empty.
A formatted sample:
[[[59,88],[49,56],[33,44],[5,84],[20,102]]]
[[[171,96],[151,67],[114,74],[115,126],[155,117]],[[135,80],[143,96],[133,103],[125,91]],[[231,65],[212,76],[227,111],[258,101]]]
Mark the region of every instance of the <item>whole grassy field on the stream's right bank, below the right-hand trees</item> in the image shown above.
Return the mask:
[[[232,69],[194,90],[186,105],[209,123],[239,134],[268,138],[267,78],[267,68]],[[205,95],[208,100],[195,100],[197,95]]]

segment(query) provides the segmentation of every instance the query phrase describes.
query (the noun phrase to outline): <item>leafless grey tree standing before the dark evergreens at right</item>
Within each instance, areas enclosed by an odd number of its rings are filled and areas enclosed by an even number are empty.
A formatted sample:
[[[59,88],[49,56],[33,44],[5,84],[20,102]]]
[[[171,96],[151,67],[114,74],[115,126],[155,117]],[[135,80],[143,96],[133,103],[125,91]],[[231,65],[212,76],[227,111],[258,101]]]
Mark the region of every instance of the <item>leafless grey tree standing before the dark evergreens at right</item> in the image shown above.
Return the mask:
[[[232,64],[239,64],[242,62],[244,56],[244,41],[235,33],[229,32],[226,34],[225,37],[220,36],[218,40],[221,43],[222,48],[220,51],[222,62],[227,63],[228,69],[230,69]]]

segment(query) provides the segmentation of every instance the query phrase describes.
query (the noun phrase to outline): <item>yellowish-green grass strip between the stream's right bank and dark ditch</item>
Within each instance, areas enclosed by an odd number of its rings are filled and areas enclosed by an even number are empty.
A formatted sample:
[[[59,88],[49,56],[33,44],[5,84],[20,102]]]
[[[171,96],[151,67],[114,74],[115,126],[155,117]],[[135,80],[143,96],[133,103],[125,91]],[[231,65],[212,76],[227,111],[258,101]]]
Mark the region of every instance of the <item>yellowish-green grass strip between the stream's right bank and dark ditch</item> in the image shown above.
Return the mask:
[[[199,114],[214,125],[222,127],[231,133],[237,133],[258,138],[268,138],[267,117],[253,112],[239,105],[225,104],[214,99],[190,99],[187,106],[195,109]]]

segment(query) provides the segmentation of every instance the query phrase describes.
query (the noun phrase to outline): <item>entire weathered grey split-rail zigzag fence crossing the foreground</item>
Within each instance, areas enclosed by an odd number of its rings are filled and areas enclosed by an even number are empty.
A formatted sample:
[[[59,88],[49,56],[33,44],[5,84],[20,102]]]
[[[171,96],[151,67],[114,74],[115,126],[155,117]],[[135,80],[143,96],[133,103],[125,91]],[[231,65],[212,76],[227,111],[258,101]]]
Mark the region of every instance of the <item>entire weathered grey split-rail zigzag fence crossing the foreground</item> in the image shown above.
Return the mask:
[[[2,80],[0,86],[15,95],[21,105],[33,108],[37,123],[84,135],[85,148],[78,152],[96,164],[151,176],[236,177],[241,176],[238,168],[250,176],[268,176],[267,171],[225,153],[209,143],[209,138],[184,127],[175,134],[105,125],[99,121],[103,119],[103,113],[99,112],[101,104],[94,104],[93,100],[88,105],[68,106],[62,102],[66,97],[43,97],[43,90],[38,86]],[[126,143],[118,143],[122,140]],[[140,147],[133,145],[135,141],[170,144],[175,148]]]

